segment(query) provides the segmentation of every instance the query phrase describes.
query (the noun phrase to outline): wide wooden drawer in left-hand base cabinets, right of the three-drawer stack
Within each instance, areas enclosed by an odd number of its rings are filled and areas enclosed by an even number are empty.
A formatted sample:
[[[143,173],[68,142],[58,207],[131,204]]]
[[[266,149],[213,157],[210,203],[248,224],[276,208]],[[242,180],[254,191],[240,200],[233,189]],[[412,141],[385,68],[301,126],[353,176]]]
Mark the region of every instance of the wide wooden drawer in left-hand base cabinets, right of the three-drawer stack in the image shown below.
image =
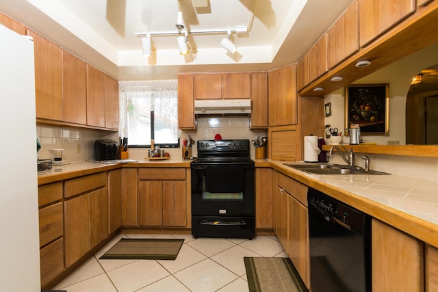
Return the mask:
[[[101,172],[99,174],[91,174],[79,178],[73,178],[64,183],[64,198],[75,196],[77,194],[104,187],[106,184],[106,174]]]

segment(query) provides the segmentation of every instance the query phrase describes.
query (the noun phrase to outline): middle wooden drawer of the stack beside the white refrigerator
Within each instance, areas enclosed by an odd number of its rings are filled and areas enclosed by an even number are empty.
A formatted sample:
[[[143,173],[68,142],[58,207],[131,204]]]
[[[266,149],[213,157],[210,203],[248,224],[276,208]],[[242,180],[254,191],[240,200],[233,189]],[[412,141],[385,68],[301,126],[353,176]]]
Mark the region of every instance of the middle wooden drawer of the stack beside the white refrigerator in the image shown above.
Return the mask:
[[[64,234],[62,202],[40,209],[40,246]]]

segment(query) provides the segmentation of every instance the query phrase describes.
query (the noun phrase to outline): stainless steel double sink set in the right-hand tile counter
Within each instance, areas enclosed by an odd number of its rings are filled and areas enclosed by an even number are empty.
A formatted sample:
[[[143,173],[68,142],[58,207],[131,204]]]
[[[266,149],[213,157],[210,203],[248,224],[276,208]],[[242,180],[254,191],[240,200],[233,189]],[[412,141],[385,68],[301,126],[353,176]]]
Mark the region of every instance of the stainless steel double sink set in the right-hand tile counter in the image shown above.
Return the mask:
[[[289,166],[289,168],[302,170],[303,172],[308,172],[310,174],[389,174],[387,172],[378,172],[376,170],[364,170],[360,166],[333,163],[285,163],[285,165]]]

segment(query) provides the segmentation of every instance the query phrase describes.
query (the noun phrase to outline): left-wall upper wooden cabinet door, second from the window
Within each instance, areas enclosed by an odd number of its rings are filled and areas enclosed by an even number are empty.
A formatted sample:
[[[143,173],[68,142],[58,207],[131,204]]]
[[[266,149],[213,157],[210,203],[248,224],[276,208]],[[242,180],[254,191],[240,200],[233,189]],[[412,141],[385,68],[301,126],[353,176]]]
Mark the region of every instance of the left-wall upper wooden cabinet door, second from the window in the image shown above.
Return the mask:
[[[87,64],[87,124],[105,127],[105,75]]]

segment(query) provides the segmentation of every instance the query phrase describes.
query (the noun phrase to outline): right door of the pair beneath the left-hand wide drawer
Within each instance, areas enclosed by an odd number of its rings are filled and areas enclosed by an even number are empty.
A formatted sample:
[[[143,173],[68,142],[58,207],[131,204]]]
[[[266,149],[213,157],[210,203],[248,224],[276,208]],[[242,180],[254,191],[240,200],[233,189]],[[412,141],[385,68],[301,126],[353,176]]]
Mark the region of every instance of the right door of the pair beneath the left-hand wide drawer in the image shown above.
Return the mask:
[[[88,194],[90,198],[90,248],[94,248],[108,237],[107,188]]]

